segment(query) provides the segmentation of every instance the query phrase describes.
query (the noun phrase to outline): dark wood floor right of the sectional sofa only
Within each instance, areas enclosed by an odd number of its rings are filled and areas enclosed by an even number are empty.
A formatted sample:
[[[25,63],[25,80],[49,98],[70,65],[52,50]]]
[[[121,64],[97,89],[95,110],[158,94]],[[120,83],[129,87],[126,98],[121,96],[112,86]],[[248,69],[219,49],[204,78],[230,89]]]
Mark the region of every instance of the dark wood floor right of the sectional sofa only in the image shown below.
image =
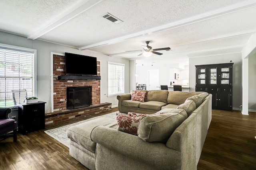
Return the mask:
[[[212,111],[198,170],[255,170],[256,113]]]

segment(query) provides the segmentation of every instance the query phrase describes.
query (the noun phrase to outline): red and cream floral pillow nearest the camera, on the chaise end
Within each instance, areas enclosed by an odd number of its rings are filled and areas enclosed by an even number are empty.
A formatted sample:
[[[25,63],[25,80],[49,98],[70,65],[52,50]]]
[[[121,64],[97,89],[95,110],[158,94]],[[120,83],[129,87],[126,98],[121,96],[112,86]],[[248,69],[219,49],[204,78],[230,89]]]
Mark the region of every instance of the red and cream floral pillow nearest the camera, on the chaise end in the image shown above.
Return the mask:
[[[132,135],[138,135],[137,130],[140,118],[141,117],[131,117],[121,113],[116,113],[117,130],[130,133]]]

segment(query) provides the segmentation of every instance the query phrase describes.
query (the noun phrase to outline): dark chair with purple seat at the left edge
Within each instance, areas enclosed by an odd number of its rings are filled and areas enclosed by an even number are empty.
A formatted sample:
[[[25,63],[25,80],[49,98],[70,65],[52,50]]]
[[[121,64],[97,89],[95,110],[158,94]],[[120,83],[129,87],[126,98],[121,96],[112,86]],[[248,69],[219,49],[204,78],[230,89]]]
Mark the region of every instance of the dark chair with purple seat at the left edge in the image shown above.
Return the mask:
[[[12,112],[11,108],[0,107],[0,141],[7,137],[13,137],[13,141],[17,141],[17,122],[9,118],[9,113]],[[13,133],[9,133],[13,131]]]

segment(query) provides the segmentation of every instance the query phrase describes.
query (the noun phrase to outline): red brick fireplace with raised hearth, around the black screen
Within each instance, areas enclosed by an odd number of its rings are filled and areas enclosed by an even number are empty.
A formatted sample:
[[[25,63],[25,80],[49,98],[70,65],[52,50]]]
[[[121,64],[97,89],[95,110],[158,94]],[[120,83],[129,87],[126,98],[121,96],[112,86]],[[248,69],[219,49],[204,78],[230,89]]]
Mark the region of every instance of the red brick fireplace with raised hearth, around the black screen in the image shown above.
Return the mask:
[[[100,76],[100,62],[97,61],[97,72]],[[53,107],[54,112],[46,113],[46,126],[55,125],[64,121],[78,119],[88,115],[111,110],[111,104],[100,104],[100,80],[58,80],[59,76],[65,75],[65,57],[53,55]],[[90,87],[91,104],[89,107],[79,109],[67,109],[68,87]]]

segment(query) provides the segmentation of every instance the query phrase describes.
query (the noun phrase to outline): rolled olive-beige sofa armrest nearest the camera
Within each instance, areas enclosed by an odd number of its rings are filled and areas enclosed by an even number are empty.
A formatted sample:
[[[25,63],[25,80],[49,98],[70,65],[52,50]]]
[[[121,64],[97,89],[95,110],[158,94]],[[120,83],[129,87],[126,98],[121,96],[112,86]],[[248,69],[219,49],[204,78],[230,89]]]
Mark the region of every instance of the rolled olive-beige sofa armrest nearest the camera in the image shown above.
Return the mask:
[[[91,140],[114,152],[160,167],[179,167],[180,152],[167,148],[163,143],[146,142],[138,136],[116,129],[98,126],[91,132]],[[161,168],[160,168],[161,169]]]

